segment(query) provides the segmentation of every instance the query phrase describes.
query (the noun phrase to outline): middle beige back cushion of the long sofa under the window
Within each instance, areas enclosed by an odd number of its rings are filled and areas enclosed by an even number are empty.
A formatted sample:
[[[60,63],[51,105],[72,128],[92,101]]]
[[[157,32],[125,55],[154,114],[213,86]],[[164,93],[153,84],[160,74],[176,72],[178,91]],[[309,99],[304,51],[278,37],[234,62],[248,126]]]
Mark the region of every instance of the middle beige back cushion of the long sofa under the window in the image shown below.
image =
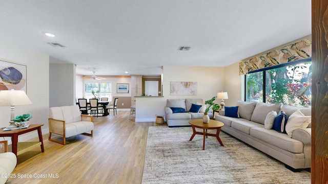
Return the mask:
[[[272,110],[279,112],[280,104],[267,104],[263,102],[257,103],[254,108],[251,121],[264,125],[265,118]]]

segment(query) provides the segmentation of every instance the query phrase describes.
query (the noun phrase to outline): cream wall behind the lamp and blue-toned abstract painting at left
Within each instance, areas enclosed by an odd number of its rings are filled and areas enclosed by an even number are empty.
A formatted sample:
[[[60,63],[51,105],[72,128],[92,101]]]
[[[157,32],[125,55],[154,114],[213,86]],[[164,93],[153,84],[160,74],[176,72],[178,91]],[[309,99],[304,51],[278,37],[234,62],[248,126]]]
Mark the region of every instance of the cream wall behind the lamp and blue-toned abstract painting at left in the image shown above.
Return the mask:
[[[0,39],[0,58],[27,66],[27,96],[32,105],[15,107],[15,116],[30,113],[31,124],[44,124],[43,134],[48,133],[49,118],[49,56]],[[0,107],[0,127],[9,125],[10,107]],[[36,137],[37,133],[19,136],[19,141]]]

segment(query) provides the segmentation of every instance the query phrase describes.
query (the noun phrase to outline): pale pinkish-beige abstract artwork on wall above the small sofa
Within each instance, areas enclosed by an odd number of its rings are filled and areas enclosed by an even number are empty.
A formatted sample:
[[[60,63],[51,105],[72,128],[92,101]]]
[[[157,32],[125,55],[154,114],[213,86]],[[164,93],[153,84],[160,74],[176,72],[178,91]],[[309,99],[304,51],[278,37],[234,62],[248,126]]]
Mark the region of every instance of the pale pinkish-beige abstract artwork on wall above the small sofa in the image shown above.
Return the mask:
[[[197,95],[197,82],[170,82],[170,95]]]

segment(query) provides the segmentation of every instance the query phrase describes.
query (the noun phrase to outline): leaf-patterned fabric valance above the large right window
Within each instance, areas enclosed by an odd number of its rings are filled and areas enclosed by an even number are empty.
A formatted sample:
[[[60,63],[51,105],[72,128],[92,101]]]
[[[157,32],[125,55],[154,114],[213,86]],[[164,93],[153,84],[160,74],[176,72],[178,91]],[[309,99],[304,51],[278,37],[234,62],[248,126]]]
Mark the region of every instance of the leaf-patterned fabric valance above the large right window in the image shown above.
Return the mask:
[[[253,57],[239,62],[239,75],[255,72],[265,67],[276,66],[283,63],[293,62],[304,58],[310,58],[312,38],[303,39],[299,42],[273,50],[266,54]]]

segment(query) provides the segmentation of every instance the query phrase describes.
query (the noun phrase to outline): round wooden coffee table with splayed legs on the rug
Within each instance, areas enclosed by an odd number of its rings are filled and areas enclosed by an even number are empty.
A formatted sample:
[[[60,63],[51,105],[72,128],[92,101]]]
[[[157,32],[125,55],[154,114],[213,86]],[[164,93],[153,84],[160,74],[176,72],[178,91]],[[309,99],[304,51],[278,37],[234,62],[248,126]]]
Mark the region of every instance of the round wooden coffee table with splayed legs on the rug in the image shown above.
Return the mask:
[[[206,137],[207,136],[215,136],[216,139],[219,141],[220,145],[223,146],[223,143],[222,143],[222,141],[220,140],[220,137],[219,137],[221,127],[224,125],[222,122],[219,122],[219,121],[216,121],[216,120],[210,120],[209,123],[203,123],[202,119],[194,119],[194,120],[190,120],[189,124],[191,124],[191,126],[193,128],[193,132],[194,132],[193,135],[191,135],[189,141],[192,141],[196,134],[203,135],[204,136],[203,150],[205,150],[205,139],[206,139]],[[203,132],[197,132],[195,130],[195,127],[203,129]],[[208,133],[207,132],[208,129],[217,129],[216,134]]]

